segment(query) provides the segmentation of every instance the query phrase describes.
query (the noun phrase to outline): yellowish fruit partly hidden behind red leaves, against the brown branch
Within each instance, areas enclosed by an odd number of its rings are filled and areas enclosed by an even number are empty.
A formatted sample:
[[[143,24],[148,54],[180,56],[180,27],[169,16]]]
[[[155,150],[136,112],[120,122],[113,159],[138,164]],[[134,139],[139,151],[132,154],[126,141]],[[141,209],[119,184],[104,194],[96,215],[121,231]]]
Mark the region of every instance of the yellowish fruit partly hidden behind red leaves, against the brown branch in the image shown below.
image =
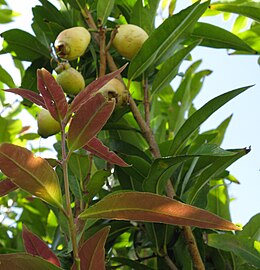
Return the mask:
[[[128,91],[124,84],[116,78],[100,88],[99,92],[105,93],[108,98],[115,98],[117,106],[122,106],[128,102]]]

